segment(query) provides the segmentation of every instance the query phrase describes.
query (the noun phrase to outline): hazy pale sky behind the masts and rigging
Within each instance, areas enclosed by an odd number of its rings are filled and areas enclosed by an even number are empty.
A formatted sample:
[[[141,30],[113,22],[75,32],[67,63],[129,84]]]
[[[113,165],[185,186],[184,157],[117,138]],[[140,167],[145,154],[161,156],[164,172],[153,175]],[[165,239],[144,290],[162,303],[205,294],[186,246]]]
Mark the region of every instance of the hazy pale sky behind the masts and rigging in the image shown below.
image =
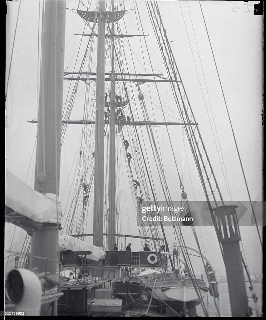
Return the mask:
[[[36,125],[28,124],[27,121],[37,118],[37,44],[39,3],[40,2],[38,0],[24,0],[21,2],[20,15],[18,17],[20,1],[10,1],[7,3],[6,17],[6,79],[9,77],[6,99],[6,167],[24,181],[26,181],[28,175],[27,183],[29,185],[32,185],[32,177],[34,174],[35,154],[33,153],[33,150],[36,138]],[[125,1],[125,4],[126,9],[134,8],[134,6],[136,8],[136,4],[134,4],[133,1]],[[163,68],[163,65],[160,58],[160,51],[158,48],[156,49],[154,31],[150,20],[147,18],[145,3],[143,1],[137,1],[137,4],[142,18],[141,21],[143,28],[146,33],[152,35],[150,37],[146,37],[146,40],[148,47],[150,47],[149,52],[153,57],[154,71],[157,72],[159,69],[165,73],[165,70],[161,69]],[[214,114],[232,198],[235,201],[248,201],[244,180],[241,175],[239,160],[237,158],[228,117],[222,99],[221,89],[219,87],[215,71],[215,65],[212,59],[200,12],[199,2],[188,1],[188,5],[210,95],[211,107],[207,102],[207,110],[210,117],[211,111]],[[197,47],[193,36],[188,5],[185,1],[181,1],[180,3],[178,1],[159,1],[159,8],[164,21],[164,27],[167,30],[169,41],[174,41],[171,43],[171,47],[184,82],[184,87],[192,105],[195,118],[197,119],[197,123],[199,123],[200,132],[207,148],[216,178],[224,199],[229,200],[182,17],[183,12],[187,31],[189,33],[189,39],[192,45],[192,51],[195,55],[198,72],[200,74],[200,81],[204,84],[199,64],[200,61],[197,54]],[[232,125],[235,130],[235,136],[238,142],[247,183],[250,188],[251,198],[253,201],[262,200],[262,16],[254,16],[253,8],[250,6],[247,7],[247,4],[243,1],[201,1],[201,5],[211,44],[213,46]],[[182,12],[180,6],[182,8]],[[67,8],[76,9],[76,7],[77,1],[67,2]],[[92,8],[94,7],[95,5],[92,5]],[[127,29],[128,33],[136,33],[137,28],[140,29],[141,33],[141,26],[137,26],[136,24],[134,25],[134,19],[136,18],[136,15],[138,15],[137,11],[135,12],[129,13],[128,17],[125,18],[125,21],[129,23]],[[12,64],[9,73],[17,17],[17,34],[15,37]],[[81,18],[76,13],[67,10],[67,47],[65,67],[68,67],[68,70],[70,71],[73,70],[73,67],[71,67],[71,63],[69,63],[69,57],[74,53],[72,50],[78,37],[73,37],[72,35],[73,33],[82,33],[81,21]],[[77,27],[78,25],[79,27]],[[90,33],[89,29],[87,31],[88,32],[86,33]],[[144,42],[142,43],[144,44]],[[130,45],[134,52],[138,52],[138,54],[140,54],[138,39],[130,39]],[[139,68],[137,72],[145,72],[143,67],[141,69],[141,61],[139,61],[138,56],[136,55],[135,57],[136,60],[134,62]],[[106,72],[109,72],[110,68],[108,62],[106,64]],[[78,71],[78,69],[75,71]],[[96,71],[96,65],[91,71]],[[151,72],[148,65],[146,71],[147,73]],[[67,83],[67,85],[69,84]],[[81,86],[83,87],[85,84],[82,84]],[[148,86],[147,84],[144,84],[141,86],[141,89],[148,98],[150,96],[150,89],[152,98],[158,101],[158,96],[156,96],[156,92],[152,85]],[[134,96],[135,99],[137,99],[137,90],[133,85],[133,92],[134,90]],[[65,91],[65,93],[66,92],[67,91]],[[173,99],[170,97],[170,85],[160,84],[160,92],[163,99],[167,101],[167,112],[170,115],[173,115],[171,110],[177,110],[173,104]],[[205,100],[207,101],[206,89],[204,86],[203,92]],[[146,104],[147,107],[151,107],[148,98],[146,100]],[[165,102],[163,102],[163,107],[166,107]],[[74,109],[71,119],[82,119],[82,112],[83,109]],[[161,110],[153,106],[153,113],[155,120],[162,121]],[[153,120],[152,118],[153,116],[151,116],[151,120]],[[166,115],[166,119],[168,121],[177,121],[169,115]],[[213,124],[213,121],[211,121],[211,123]],[[183,129],[180,127],[169,127],[171,139],[175,142],[178,166],[180,166],[180,171],[184,178],[184,188],[189,199],[192,201],[194,200],[192,194],[193,185],[195,200],[204,201],[197,170],[193,163],[192,155],[189,152],[187,141],[183,140],[182,130]],[[72,126],[68,130],[66,144],[62,149],[60,178],[61,196],[67,184],[67,176],[74,161],[75,153],[78,150],[80,131],[80,128]],[[176,175],[173,178],[174,163],[171,152],[169,151],[167,133],[163,127],[158,128],[156,133],[161,143],[162,161],[165,166],[166,178],[169,181],[169,189],[173,194],[177,195],[176,199],[173,200],[179,201],[180,188],[179,183],[176,180]],[[125,136],[126,138],[128,137],[127,132],[125,132]],[[184,147],[188,153],[188,159],[185,157]],[[33,158],[31,159],[32,155]],[[150,160],[152,166],[152,156]],[[126,170],[125,165],[121,168]],[[188,168],[190,172],[188,171]],[[124,172],[126,174],[126,171]],[[189,178],[189,173],[191,174],[192,180]],[[156,176],[154,177],[154,181],[155,188],[157,188],[157,196],[159,196],[159,198],[161,197],[161,200],[163,200],[160,183]],[[137,226],[134,222],[135,215],[133,215],[133,213],[130,214],[129,209],[130,201],[132,201],[130,196],[130,189],[128,189],[128,191],[123,190],[121,192],[120,212],[128,212],[129,214],[129,218],[126,217],[125,220],[123,220],[125,221],[125,224],[122,230],[124,233],[129,233],[128,227],[130,225],[131,233],[137,234]],[[65,195],[65,197],[67,197],[67,195]],[[125,201],[127,202],[126,204]],[[63,208],[64,204],[66,204],[66,202],[62,199]],[[13,229],[14,227],[12,225],[7,224],[6,230],[10,231],[6,233],[7,244],[12,239]],[[257,259],[261,260],[261,251],[256,230],[254,227],[241,227],[240,230],[242,231],[242,240],[245,253],[248,258],[249,268],[251,271],[259,271],[261,265],[258,263]],[[90,225],[88,225],[87,232],[91,232]],[[216,263],[223,269],[217,240],[212,241],[216,238],[214,228],[201,227],[201,236],[206,254],[210,256],[214,264]],[[16,235],[15,238],[17,237],[18,235]],[[169,237],[170,243],[174,238],[171,238],[171,236]],[[189,228],[184,228],[184,237],[190,241],[191,233]],[[210,241],[210,239],[212,240]],[[195,245],[194,243],[190,244]],[[257,250],[254,250],[254,248],[257,248]],[[139,243],[136,242],[135,250],[139,249]],[[198,268],[200,269],[201,267],[199,266]]]

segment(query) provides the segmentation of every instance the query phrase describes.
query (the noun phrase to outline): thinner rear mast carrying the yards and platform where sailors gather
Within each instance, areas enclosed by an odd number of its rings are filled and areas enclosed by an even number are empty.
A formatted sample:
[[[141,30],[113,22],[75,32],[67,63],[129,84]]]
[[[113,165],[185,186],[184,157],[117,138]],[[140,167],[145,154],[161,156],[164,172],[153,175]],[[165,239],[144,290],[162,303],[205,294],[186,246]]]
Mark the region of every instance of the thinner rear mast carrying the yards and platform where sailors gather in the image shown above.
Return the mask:
[[[114,5],[112,2],[112,10],[114,11]],[[110,120],[109,120],[109,137],[110,137],[110,153],[109,153],[109,214],[108,214],[108,233],[115,234],[115,70],[114,70],[114,22],[112,22],[111,31],[111,63],[112,70],[110,73],[111,78],[111,96],[110,96]],[[115,242],[115,236],[108,236],[108,246],[112,250],[111,246]]]

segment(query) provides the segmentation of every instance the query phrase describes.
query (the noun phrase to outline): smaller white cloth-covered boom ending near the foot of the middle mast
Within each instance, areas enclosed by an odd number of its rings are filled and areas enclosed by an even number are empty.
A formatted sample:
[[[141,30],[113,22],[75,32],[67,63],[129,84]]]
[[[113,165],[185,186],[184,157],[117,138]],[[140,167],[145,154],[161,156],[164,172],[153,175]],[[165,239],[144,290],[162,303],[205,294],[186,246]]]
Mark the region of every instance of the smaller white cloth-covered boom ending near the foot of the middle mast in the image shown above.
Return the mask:
[[[103,247],[97,247],[92,244],[88,244],[85,241],[79,240],[73,236],[62,235],[59,236],[59,251],[91,251],[90,255],[87,255],[86,258],[99,261],[105,259],[105,250]]]

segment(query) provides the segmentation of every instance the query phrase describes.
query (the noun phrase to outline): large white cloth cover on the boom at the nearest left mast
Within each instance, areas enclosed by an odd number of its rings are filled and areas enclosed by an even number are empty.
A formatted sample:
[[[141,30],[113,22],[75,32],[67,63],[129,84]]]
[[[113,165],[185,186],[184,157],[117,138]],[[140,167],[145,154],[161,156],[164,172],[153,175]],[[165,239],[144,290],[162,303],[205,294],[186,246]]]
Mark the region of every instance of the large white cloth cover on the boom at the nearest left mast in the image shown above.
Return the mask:
[[[5,180],[5,205],[39,223],[57,223],[57,215],[60,223],[62,218],[60,202],[56,207],[56,195],[43,195],[35,191],[8,170]]]

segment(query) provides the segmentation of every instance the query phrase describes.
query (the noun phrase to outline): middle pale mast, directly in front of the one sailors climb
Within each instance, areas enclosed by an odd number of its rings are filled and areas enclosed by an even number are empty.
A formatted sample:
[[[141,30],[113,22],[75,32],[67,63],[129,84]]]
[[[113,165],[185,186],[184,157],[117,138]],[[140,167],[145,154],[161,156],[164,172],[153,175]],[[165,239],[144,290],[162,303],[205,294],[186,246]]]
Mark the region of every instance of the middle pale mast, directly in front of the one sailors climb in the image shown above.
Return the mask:
[[[104,218],[104,77],[105,77],[105,0],[98,4],[95,122],[95,173],[93,201],[93,244],[103,246]]]

